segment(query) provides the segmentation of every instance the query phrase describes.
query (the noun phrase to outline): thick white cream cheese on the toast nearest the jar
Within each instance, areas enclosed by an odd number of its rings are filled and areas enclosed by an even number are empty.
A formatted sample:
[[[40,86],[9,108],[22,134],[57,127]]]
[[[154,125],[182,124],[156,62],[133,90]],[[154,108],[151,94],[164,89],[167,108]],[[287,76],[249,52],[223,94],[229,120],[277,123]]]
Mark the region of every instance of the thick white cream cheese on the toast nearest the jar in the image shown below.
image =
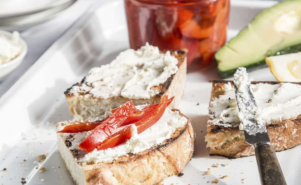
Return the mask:
[[[178,71],[178,59],[160,53],[158,47],[146,43],[137,51],[121,52],[107,65],[92,68],[81,86],[73,86],[70,93],[88,93],[85,96],[110,98],[123,96],[130,99],[148,99],[160,92],[151,89],[164,83]]]

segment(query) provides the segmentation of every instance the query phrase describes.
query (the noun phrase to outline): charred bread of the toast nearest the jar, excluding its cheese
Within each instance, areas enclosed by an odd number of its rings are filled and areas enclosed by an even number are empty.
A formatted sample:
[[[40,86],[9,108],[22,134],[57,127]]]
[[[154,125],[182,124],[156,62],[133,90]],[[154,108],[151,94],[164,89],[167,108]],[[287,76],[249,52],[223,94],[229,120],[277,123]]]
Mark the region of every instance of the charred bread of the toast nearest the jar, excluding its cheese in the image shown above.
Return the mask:
[[[178,71],[171,75],[164,83],[151,88],[159,92],[155,96],[151,96],[149,99],[129,99],[122,96],[103,99],[94,96],[85,96],[85,94],[89,92],[77,93],[77,95],[75,95],[71,89],[73,86],[81,86],[85,81],[85,78],[83,78],[80,83],[74,84],[65,91],[70,113],[77,119],[87,120],[98,117],[110,108],[116,108],[129,100],[132,100],[135,105],[156,104],[161,101],[164,95],[168,95],[168,97],[175,96],[169,108],[176,108],[182,99],[185,88],[187,51],[178,50],[170,52],[172,56],[178,59]],[[162,51],[161,53],[166,53],[166,51]]]

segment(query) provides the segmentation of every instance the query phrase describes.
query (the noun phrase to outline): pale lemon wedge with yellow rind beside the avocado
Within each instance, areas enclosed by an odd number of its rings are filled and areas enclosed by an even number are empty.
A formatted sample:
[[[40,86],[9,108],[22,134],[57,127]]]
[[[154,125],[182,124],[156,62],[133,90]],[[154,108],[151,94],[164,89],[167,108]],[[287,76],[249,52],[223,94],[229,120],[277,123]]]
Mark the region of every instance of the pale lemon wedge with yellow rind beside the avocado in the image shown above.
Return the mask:
[[[270,56],[265,62],[279,82],[301,82],[301,52]]]

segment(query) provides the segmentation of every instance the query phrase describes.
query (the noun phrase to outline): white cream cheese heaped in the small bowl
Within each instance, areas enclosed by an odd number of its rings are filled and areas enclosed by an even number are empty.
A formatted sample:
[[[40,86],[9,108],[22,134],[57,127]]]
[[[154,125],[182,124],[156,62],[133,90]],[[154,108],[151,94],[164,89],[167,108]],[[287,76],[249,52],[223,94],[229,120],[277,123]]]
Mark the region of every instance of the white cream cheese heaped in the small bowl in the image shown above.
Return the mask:
[[[20,34],[14,31],[10,36],[0,35],[0,65],[16,58],[23,50]]]

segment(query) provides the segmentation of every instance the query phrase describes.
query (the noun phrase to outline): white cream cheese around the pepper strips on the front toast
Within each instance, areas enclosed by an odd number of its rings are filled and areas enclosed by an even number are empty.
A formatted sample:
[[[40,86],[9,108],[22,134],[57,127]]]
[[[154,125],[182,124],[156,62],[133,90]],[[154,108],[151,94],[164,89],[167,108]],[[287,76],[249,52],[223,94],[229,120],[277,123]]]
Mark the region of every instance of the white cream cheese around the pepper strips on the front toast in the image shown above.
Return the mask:
[[[145,105],[138,106],[138,109],[143,108]],[[169,139],[171,134],[175,132],[177,128],[184,126],[187,123],[187,119],[179,115],[178,111],[171,111],[166,108],[163,116],[150,128],[146,129],[140,134],[137,133],[137,128],[134,124],[131,126],[132,137],[123,144],[120,144],[114,148],[108,148],[106,150],[93,150],[90,153],[85,154],[82,158],[78,159],[81,163],[98,163],[98,162],[111,162],[114,159],[118,159],[120,156],[128,156],[129,153],[138,153],[151,148],[156,144],[160,144],[166,139]],[[123,127],[124,128],[124,127]],[[119,128],[122,129],[122,128]],[[91,134],[89,132],[77,133],[69,141],[72,146],[70,150],[77,150],[80,142]]]

